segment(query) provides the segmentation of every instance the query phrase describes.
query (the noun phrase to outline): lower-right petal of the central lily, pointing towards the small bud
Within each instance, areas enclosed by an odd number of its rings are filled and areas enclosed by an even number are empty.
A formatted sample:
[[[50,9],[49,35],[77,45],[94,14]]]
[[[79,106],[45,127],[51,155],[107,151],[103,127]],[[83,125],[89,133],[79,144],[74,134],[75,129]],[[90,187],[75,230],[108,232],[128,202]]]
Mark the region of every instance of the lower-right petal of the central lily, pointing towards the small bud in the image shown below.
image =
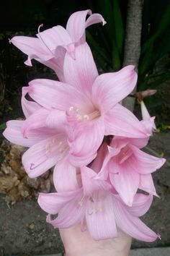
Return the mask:
[[[135,115],[127,108],[117,104],[104,116],[105,135],[146,138],[151,135]]]

